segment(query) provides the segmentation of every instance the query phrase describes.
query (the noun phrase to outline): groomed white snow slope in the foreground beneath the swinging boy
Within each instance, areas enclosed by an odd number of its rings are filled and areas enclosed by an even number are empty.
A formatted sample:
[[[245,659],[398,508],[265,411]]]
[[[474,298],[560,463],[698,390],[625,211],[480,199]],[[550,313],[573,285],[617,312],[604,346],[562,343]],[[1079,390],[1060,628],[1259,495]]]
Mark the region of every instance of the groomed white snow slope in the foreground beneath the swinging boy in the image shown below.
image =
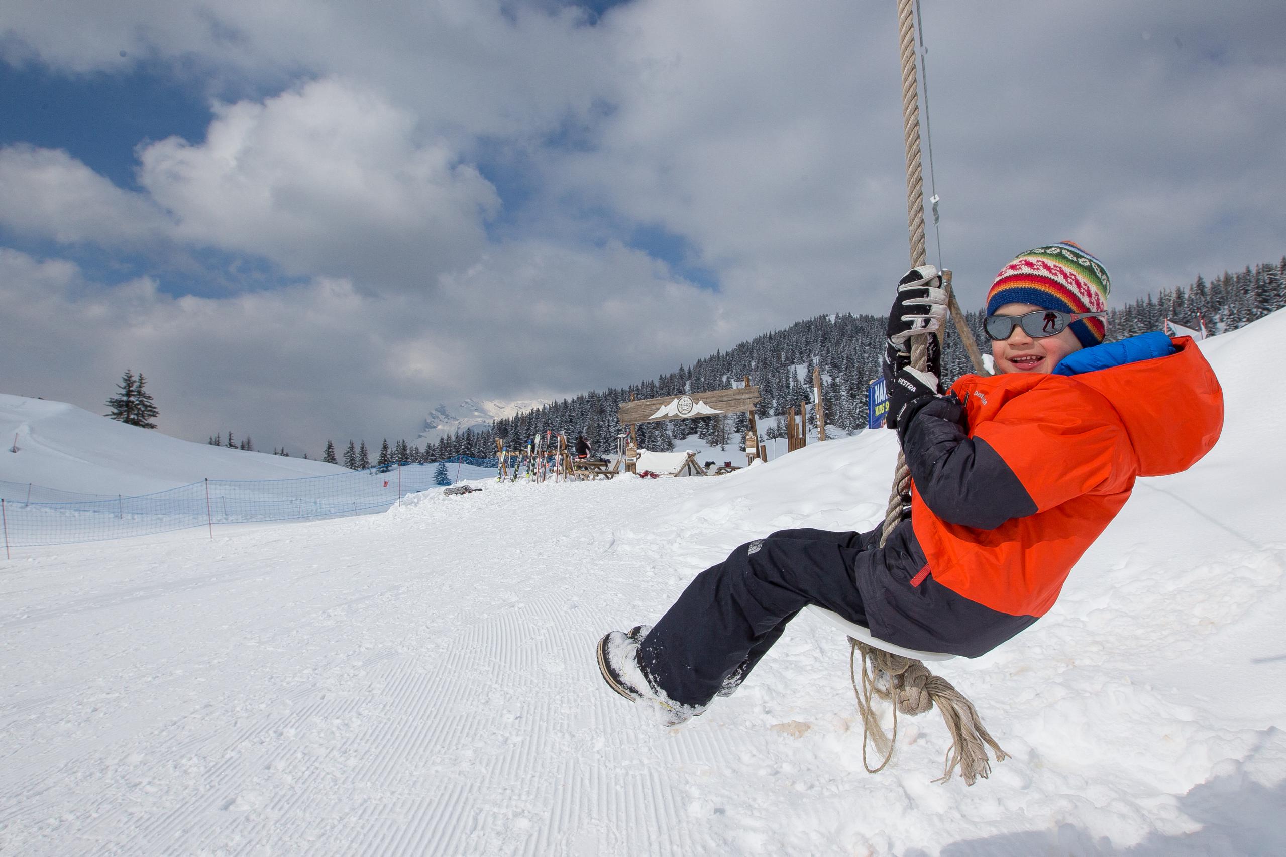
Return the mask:
[[[863,772],[846,644],[808,613],[679,729],[597,675],[601,633],[737,543],[873,526],[895,446],[868,432],[0,563],[0,852],[1286,853],[1283,337],[1206,343],[1220,445],[1142,482],[1048,617],[940,666],[1015,757],[974,788],[931,782],[936,713]]]

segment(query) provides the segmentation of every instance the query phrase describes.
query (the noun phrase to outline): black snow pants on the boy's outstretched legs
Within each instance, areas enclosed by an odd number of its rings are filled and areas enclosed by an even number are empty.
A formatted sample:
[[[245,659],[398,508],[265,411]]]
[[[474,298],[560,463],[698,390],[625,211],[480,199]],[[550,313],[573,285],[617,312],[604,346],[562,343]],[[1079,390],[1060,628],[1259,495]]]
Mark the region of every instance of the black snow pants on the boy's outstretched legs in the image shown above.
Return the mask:
[[[737,667],[748,673],[809,604],[865,626],[853,569],[878,543],[878,529],[783,529],[742,545],[693,578],[643,640],[639,666],[670,699],[700,707]]]

